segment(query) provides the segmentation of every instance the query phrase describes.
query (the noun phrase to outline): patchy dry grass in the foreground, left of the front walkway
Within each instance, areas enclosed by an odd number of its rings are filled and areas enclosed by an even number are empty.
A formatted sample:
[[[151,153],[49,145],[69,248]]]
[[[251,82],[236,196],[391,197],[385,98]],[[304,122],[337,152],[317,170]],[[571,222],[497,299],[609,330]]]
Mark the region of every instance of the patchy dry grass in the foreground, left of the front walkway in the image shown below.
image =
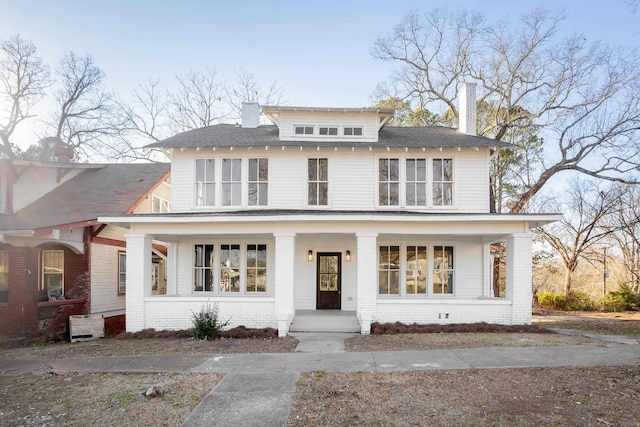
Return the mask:
[[[40,373],[0,377],[2,426],[176,426],[221,374]],[[157,385],[162,393],[146,397]]]

